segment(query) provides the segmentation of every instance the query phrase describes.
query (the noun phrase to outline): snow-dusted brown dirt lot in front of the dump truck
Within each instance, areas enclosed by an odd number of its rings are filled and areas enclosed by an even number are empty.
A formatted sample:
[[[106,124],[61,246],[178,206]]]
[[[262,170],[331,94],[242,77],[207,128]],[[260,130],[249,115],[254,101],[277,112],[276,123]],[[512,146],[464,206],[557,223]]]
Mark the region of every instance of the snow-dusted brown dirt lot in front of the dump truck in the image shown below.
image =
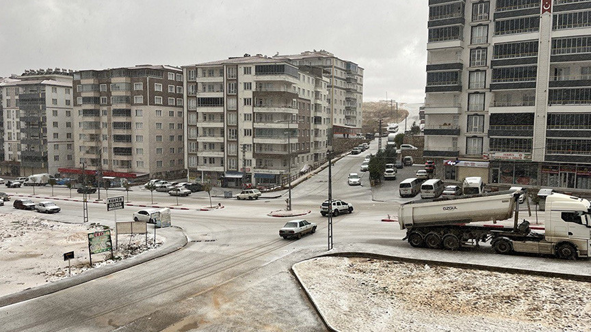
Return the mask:
[[[590,283],[367,258],[293,266],[337,331],[590,331]]]

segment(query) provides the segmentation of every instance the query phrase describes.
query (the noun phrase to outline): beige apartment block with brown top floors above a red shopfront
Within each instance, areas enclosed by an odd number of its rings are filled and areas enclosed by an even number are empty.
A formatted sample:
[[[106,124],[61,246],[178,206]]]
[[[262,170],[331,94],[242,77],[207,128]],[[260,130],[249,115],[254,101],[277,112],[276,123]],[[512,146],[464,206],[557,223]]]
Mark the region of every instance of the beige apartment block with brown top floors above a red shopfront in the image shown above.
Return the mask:
[[[81,70],[73,86],[75,165],[60,173],[186,176],[181,68]]]

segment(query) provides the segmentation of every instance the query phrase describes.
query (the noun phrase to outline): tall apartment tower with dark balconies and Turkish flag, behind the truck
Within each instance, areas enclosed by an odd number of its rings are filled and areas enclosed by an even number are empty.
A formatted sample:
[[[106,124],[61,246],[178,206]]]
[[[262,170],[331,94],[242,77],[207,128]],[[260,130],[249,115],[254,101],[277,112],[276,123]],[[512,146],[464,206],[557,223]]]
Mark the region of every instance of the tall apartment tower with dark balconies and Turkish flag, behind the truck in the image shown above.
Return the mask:
[[[591,190],[591,1],[429,5],[424,156],[449,180]]]

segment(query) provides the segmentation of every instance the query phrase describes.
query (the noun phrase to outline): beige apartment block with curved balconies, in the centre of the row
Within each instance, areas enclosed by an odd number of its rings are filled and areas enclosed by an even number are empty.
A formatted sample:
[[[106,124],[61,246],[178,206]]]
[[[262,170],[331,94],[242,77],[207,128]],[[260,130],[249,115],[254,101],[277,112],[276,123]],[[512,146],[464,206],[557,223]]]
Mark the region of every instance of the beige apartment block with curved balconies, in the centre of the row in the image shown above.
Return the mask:
[[[326,158],[330,97],[321,68],[246,54],[183,72],[189,180],[275,186]]]

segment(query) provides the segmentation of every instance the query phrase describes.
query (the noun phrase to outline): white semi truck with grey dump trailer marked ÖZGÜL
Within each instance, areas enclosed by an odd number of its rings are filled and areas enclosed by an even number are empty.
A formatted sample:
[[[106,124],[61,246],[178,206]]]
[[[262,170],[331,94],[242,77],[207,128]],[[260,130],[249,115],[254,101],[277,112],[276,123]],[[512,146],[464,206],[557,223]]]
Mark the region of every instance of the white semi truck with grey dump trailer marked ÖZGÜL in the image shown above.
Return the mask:
[[[523,191],[500,191],[463,198],[442,197],[404,203],[398,223],[412,247],[458,250],[490,242],[496,253],[540,253],[558,258],[588,258],[591,245],[591,204],[587,199],[553,193],[547,197],[544,234],[529,221],[518,222]],[[514,217],[512,227],[474,225]]]

